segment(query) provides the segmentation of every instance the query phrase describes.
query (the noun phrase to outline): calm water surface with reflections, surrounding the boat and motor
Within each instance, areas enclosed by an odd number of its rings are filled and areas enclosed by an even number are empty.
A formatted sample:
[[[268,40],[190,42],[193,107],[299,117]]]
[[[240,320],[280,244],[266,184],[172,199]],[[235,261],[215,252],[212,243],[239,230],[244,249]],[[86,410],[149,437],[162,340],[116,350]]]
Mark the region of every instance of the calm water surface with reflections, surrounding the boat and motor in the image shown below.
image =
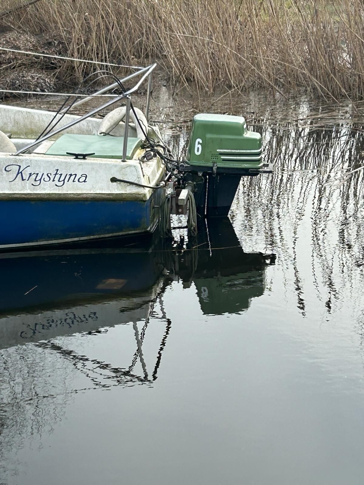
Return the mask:
[[[181,248],[0,258],[0,484],[363,484],[357,114],[162,98],[179,153],[246,114],[275,173]]]

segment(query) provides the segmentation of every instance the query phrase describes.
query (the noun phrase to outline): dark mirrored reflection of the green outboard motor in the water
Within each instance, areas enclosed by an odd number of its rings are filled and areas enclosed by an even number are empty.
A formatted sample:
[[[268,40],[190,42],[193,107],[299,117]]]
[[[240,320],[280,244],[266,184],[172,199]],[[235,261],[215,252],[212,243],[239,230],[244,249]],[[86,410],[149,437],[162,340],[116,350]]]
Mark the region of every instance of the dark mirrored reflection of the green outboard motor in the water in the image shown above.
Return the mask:
[[[239,313],[265,291],[265,267],[274,254],[245,253],[230,219],[210,219],[194,249],[181,253],[175,273],[184,288],[192,283],[205,315]],[[196,244],[198,247],[196,247]]]

